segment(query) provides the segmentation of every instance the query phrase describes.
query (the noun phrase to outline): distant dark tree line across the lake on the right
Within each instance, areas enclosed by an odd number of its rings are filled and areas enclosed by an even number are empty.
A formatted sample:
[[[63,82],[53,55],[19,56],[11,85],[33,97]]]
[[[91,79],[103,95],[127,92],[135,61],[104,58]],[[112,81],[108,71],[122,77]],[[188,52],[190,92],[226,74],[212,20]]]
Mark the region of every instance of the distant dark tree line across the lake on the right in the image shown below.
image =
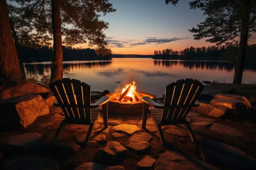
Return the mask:
[[[179,52],[172,49],[165,49],[162,51],[155,50],[154,58],[235,61],[237,50],[238,45],[190,47]],[[256,61],[256,44],[248,45],[246,54],[246,61]]]

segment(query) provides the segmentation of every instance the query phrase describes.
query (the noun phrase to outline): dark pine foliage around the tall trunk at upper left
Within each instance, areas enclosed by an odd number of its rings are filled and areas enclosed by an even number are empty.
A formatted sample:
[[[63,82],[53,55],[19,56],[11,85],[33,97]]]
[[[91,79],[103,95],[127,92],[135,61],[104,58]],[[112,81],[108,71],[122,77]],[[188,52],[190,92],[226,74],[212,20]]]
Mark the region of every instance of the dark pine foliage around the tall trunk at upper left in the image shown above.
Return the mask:
[[[49,46],[52,41],[51,0],[12,0],[9,15],[15,40],[22,46]],[[88,43],[105,46],[103,30],[108,23],[100,14],[114,12],[108,0],[61,0],[61,30],[64,45]]]

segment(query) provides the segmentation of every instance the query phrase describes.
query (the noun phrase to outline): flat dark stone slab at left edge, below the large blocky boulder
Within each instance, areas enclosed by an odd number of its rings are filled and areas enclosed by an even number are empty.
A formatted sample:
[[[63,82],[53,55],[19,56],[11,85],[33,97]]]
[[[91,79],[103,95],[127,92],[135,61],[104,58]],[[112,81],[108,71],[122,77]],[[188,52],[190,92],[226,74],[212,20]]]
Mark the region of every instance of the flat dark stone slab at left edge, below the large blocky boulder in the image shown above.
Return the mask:
[[[41,135],[39,133],[25,133],[21,135],[9,136],[0,142],[4,146],[16,147],[17,149],[29,150],[39,146],[41,143]]]

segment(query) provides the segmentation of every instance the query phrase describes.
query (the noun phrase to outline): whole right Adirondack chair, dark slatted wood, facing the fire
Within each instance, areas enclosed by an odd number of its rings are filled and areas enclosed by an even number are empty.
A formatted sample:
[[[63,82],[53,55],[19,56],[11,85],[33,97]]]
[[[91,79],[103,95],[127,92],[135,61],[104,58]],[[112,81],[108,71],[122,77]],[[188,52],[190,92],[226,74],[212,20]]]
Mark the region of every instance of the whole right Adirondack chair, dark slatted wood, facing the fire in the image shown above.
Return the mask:
[[[194,143],[195,136],[186,116],[191,107],[199,105],[196,100],[203,87],[197,80],[181,79],[166,86],[164,104],[159,104],[149,97],[143,97],[142,128],[145,129],[147,115],[150,114],[158,128],[161,144],[164,145],[165,141],[161,126],[184,123]]]

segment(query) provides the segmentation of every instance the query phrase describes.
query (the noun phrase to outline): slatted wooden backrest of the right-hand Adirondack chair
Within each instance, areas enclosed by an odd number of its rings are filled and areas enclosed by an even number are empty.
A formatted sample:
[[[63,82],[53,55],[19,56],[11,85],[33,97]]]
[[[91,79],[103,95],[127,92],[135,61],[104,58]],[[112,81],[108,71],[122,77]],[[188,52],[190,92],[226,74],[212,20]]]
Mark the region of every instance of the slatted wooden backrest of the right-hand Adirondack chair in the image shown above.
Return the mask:
[[[167,85],[161,124],[184,123],[203,87],[203,84],[194,79],[180,79]]]

